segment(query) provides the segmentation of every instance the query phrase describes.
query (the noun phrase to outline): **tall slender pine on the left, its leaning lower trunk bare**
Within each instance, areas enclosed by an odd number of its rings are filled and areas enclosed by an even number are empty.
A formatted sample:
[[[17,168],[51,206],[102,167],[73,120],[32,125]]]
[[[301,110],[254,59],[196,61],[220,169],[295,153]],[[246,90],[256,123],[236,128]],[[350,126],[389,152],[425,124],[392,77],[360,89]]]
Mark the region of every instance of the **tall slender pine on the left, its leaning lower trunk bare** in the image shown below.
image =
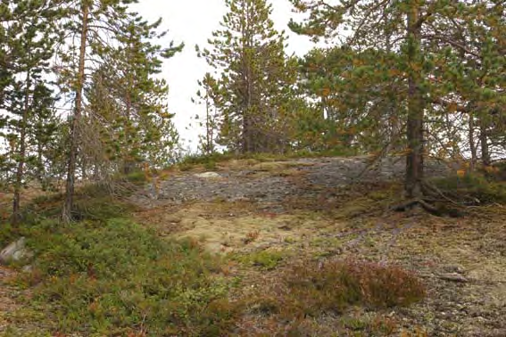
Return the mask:
[[[83,127],[85,113],[84,89],[90,78],[90,70],[94,64],[103,62],[112,51],[113,41],[117,41],[124,23],[127,21],[128,4],[136,0],[80,0],[66,3],[68,17],[63,25],[65,35],[78,36],[69,39],[68,47],[60,52],[61,63],[59,78],[65,91],[72,94],[70,118],[70,150],[67,168],[66,195],[62,211],[62,219],[72,219],[73,198],[77,164],[79,161],[79,144],[81,142],[80,127]],[[108,38],[104,38],[108,37]],[[86,168],[85,168],[86,171]]]

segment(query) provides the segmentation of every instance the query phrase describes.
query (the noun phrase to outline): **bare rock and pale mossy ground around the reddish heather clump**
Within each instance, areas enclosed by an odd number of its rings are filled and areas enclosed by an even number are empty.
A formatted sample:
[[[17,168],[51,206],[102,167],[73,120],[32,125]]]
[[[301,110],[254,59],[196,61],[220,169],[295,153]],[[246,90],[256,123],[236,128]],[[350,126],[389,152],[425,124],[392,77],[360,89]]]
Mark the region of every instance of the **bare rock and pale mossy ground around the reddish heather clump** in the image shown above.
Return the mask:
[[[250,310],[232,335],[506,336],[506,207],[469,207],[459,218],[393,212],[404,163],[387,159],[361,174],[368,160],[229,160],[172,169],[129,202],[137,222],[160,236],[189,238],[227,257],[223,274],[240,280],[233,300],[274,293],[304,261],[351,259],[400,266],[427,292],[408,307],[357,305],[299,317],[295,334],[283,333],[293,322]],[[449,168],[432,162],[427,172],[442,177]],[[20,305],[5,288],[11,273],[0,269],[0,334],[4,313]],[[379,324],[383,330],[373,329]]]

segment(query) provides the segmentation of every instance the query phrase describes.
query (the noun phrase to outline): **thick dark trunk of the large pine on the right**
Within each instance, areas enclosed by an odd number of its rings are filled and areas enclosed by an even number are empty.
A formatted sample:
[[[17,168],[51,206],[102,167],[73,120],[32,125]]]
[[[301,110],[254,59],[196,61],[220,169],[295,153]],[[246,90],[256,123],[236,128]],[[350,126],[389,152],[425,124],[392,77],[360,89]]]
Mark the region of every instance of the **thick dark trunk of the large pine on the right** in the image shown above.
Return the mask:
[[[408,155],[406,160],[405,192],[407,198],[419,198],[422,196],[423,179],[423,119],[424,103],[420,90],[421,67],[419,67],[420,53],[420,25],[419,6],[412,4],[408,13],[408,41],[410,63],[410,76],[408,79]]]

